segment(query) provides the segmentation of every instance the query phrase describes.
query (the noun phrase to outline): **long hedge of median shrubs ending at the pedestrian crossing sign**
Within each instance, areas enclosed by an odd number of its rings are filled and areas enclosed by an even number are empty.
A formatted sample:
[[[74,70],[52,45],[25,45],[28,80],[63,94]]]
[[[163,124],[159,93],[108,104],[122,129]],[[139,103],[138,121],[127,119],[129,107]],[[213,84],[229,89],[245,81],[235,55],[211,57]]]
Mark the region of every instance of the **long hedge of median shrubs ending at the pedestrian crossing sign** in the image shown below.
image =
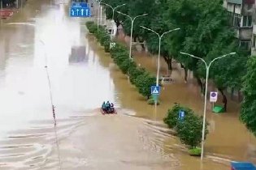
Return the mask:
[[[115,42],[115,46],[110,49],[110,44],[114,41],[111,40],[111,36],[106,32],[106,28],[98,27],[93,21],[87,22],[86,27],[104,47],[105,52],[111,53],[111,57],[115,64],[119,66],[119,69],[124,74],[129,75],[130,82],[137,87],[137,91],[149,100],[151,96],[150,87],[155,85],[155,77],[144,68],[137,66],[136,62],[129,58],[128,49],[124,45]]]

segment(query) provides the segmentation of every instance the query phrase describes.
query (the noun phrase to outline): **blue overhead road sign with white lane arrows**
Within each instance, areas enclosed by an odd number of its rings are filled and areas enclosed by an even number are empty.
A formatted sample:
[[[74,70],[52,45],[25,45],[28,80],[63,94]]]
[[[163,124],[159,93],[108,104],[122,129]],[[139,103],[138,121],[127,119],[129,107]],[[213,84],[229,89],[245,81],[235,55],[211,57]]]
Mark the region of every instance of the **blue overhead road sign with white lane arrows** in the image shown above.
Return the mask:
[[[70,7],[70,16],[71,17],[90,17],[91,10],[87,5],[87,3],[75,2],[75,3],[72,3],[72,6]]]

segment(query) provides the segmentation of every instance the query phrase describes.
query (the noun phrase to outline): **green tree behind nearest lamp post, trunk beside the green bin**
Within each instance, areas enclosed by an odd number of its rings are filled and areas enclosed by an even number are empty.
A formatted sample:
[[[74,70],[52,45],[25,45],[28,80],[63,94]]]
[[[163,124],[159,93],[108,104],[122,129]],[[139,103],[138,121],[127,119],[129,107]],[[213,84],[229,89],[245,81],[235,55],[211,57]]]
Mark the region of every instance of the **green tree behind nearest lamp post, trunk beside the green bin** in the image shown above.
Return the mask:
[[[210,53],[206,56],[206,61],[209,63],[215,57],[220,57],[224,54],[236,52],[236,56],[224,57],[210,66],[209,78],[213,80],[215,86],[223,96],[224,110],[227,111],[227,96],[224,90],[227,87],[240,90],[242,84],[242,77],[245,74],[245,65],[247,60],[247,53],[239,48],[238,42],[234,36],[232,30],[227,30],[219,33],[215,43],[212,45],[213,48]],[[206,66],[202,62],[198,62],[197,73],[203,79],[206,76]]]

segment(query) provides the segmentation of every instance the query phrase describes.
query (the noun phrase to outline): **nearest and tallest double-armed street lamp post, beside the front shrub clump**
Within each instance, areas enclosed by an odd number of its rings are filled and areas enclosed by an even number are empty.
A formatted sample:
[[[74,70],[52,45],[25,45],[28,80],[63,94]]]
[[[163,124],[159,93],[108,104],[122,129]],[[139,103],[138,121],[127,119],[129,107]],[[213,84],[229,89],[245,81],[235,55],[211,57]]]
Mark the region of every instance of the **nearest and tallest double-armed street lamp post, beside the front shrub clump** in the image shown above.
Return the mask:
[[[225,54],[223,56],[220,56],[220,57],[216,57],[215,59],[213,59],[209,65],[207,65],[206,61],[204,59],[202,59],[201,57],[196,57],[192,54],[189,54],[189,53],[183,53],[183,52],[180,52],[181,54],[184,54],[184,55],[187,55],[187,56],[190,56],[190,57],[194,57],[194,58],[197,58],[199,60],[201,60],[202,62],[205,63],[206,65],[206,87],[205,87],[205,101],[204,101],[204,108],[203,108],[203,125],[202,125],[202,147],[201,147],[201,160],[203,158],[203,148],[204,148],[204,142],[205,142],[205,131],[206,131],[206,100],[207,100],[207,87],[208,87],[208,77],[209,77],[209,70],[210,70],[210,65],[215,62],[216,60],[220,59],[220,58],[223,58],[223,57],[228,57],[228,56],[231,56],[231,55],[234,55],[236,53],[228,53],[228,54]]]

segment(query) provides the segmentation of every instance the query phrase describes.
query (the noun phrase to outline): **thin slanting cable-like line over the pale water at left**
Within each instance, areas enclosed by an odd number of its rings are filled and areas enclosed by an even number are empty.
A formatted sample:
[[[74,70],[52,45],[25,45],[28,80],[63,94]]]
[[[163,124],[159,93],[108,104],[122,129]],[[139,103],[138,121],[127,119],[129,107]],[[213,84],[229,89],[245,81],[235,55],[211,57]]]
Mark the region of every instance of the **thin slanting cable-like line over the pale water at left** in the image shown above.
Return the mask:
[[[49,75],[49,71],[48,71],[48,65],[47,65],[47,56],[46,56],[46,45],[45,42],[40,40],[41,44],[44,45],[45,47],[45,68],[46,68],[46,75],[47,75],[47,79],[48,79],[48,86],[49,86],[49,93],[50,93],[50,104],[51,104],[51,108],[52,108],[52,114],[54,117],[54,134],[55,134],[55,139],[56,139],[56,145],[57,145],[57,152],[58,152],[58,159],[59,159],[59,169],[61,170],[61,159],[60,159],[60,155],[59,155],[59,139],[58,139],[58,134],[57,134],[57,122],[56,122],[56,115],[55,115],[55,106],[54,106],[54,102],[53,102],[53,96],[52,96],[52,90],[51,90],[51,84],[50,84],[50,75]]]

